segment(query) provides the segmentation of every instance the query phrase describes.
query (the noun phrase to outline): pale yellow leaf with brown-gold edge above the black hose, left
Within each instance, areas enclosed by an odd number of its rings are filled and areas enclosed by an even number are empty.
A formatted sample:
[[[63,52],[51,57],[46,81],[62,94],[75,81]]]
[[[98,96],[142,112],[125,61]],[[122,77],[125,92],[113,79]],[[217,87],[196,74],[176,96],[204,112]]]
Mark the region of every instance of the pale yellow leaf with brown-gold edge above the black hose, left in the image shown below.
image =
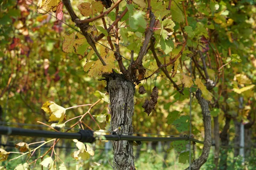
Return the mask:
[[[53,121],[59,121],[62,122],[62,120],[65,117],[66,109],[57,105],[55,102],[47,101],[42,106],[42,109],[49,114],[49,122]]]

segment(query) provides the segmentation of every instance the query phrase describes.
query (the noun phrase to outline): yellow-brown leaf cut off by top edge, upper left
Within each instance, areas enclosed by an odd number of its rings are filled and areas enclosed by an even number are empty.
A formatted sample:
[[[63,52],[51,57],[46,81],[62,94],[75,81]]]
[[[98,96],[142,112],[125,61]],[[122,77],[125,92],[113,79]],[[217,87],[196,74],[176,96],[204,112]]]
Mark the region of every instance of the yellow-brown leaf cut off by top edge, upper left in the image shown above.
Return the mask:
[[[39,0],[37,4],[37,13],[47,14],[51,9],[55,12],[58,3],[60,2],[61,0]]]

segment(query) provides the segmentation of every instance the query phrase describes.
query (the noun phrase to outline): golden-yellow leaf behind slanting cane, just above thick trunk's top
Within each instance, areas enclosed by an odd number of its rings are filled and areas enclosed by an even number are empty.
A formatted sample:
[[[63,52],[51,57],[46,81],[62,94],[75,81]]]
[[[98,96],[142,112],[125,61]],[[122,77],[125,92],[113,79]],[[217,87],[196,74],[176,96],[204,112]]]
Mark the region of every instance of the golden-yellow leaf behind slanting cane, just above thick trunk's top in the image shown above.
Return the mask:
[[[101,75],[102,73],[111,73],[112,69],[115,68],[115,57],[113,53],[110,51],[108,54],[108,49],[102,49],[100,50],[100,54],[102,56],[102,59],[105,61],[106,65],[102,65],[102,62],[98,59],[95,64],[90,68],[90,71],[88,75],[90,77],[96,77]],[[108,57],[105,58],[105,56],[108,54]]]

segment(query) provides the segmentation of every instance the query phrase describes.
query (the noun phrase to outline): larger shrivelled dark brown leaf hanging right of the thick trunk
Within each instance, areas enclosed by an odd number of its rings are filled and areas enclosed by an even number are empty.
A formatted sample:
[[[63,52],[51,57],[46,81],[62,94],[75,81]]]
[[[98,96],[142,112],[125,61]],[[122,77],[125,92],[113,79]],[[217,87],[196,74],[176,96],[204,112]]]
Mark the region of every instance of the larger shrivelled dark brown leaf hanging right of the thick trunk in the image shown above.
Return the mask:
[[[157,98],[158,98],[158,89],[156,86],[154,86],[154,88],[152,89],[151,95],[150,95],[151,99],[145,100],[144,104],[143,104],[143,108],[145,108],[145,111],[148,116],[151,113],[151,111],[154,109],[154,106],[157,104]]]

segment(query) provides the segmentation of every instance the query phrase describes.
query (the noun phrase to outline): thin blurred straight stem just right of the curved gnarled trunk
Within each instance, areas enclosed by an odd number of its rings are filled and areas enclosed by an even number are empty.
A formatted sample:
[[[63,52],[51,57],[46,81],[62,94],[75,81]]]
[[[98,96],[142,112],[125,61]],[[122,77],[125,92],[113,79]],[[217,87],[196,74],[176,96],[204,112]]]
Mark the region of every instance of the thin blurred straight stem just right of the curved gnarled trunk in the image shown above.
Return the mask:
[[[219,153],[220,153],[220,134],[219,134],[218,116],[213,117],[213,122],[214,122],[214,140],[215,140],[214,164],[215,164],[215,170],[217,170]]]

